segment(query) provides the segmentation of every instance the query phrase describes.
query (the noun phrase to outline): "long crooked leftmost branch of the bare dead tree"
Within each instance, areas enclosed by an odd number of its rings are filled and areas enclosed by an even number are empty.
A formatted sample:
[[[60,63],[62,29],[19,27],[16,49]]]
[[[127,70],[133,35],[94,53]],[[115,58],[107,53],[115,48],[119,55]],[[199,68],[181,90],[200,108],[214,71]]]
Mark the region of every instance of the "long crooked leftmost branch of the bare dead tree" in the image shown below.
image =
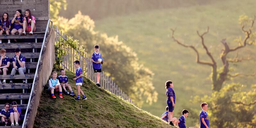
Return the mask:
[[[208,28],[209,28],[209,27],[208,27]],[[193,45],[187,45],[187,44],[181,43],[179,40],[177,40],[177,39],[174,37],[174,32],[175,32],[175,30],[174,30],[174,29],[171,29],[171,30],[172,30],[172,39],[173,39],[175,42],[177,42],[178,44],[180,44],[180,45],[183,46],[183,47],[191,48],[191,49],[193,49],[193,50],[196,52],[196,62],[197,62],[197,63],[203,64],[203,65],[213,66],[213,64],[212,64],[211,62],[209,62],[209,61],[200,60],[200,59],[199,59],[199,52],[197,51],[197,49],[196,49]],[[209,29],[208,29],[208,30],[209,30]],[[204,34],[206,34],[206,32],[205,32]],[[203,34],[203,35],[204,35],[204,34]],[[202,35],[202,36],[203,36],[203,35]]]

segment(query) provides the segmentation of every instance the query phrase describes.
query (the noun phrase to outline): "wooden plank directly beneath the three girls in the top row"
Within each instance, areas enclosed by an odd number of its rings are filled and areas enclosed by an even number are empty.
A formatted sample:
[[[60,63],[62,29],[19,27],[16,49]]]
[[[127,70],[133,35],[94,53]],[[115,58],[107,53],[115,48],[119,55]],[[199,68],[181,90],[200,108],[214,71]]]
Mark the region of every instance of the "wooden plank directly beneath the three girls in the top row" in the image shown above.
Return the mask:
[[[44,34],[34,34],[34,35],[0,35],[0,39],[43,39]]]

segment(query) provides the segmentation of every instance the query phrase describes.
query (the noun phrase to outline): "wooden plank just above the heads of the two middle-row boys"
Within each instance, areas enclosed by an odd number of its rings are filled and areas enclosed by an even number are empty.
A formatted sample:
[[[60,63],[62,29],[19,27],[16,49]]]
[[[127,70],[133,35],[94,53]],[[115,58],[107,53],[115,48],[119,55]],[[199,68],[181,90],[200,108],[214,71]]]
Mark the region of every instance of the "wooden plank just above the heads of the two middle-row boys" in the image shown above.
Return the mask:
[[[15,49],[15,48],[41,48],[42,43],[2,43],[0,47],[3,49]]]

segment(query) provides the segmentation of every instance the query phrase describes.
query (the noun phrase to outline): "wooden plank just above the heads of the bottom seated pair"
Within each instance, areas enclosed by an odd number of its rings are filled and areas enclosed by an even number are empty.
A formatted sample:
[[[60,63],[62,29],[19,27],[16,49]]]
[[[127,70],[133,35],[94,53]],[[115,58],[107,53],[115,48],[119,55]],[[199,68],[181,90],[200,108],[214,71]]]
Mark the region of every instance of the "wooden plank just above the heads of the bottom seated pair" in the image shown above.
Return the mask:
[[[0,100],[20,100],[29,99],[30,93],[3,93],[0,94]]]

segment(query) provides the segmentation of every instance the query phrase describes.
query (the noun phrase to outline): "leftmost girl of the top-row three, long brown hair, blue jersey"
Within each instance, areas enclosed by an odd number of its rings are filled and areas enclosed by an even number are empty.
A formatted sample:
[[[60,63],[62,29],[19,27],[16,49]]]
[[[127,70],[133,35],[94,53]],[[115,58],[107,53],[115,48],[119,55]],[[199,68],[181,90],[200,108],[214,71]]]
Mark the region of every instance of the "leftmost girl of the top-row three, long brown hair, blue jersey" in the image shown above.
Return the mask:
[[[3,33],[6,33],[6,35],[9,35],[10,29],[11,29],[11,20],[9,20],[8,13],[4,12],[2,20],[0,20],[0,35],[3,35]],[[2,39],[0,39],[0,43],[2,43]],[[10,39],[8,39],[8,43],[10,42]]]

